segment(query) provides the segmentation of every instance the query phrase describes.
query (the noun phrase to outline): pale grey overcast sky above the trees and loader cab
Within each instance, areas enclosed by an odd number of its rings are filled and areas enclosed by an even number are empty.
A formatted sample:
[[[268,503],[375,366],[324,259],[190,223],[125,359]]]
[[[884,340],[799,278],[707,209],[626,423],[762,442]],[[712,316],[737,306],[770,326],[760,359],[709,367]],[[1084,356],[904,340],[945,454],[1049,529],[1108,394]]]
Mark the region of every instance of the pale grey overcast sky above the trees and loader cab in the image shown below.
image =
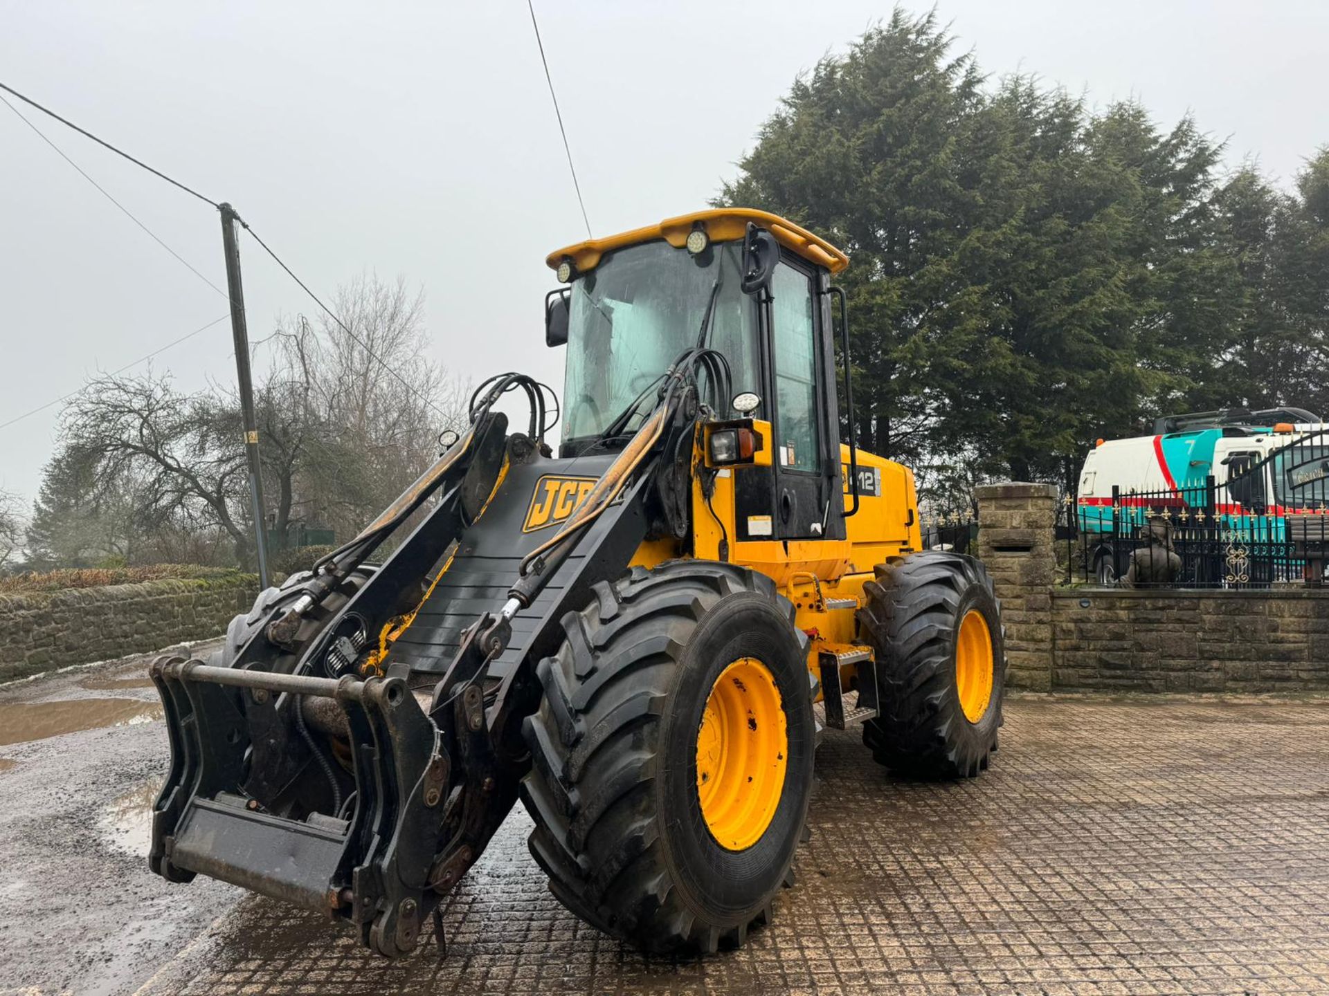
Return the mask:
[[[924,5],[906,5],[924,11]],[[703,207],[795,76],[885,3],[537,0],[597,235]],[[1329,142],[1329,4],[941,0],[957,50],[1102,106],[1187,110],[1289,183]],[[315,291],[363,270],[423,286],[436,356],[561,382],[544,256],[585,234],[525,0],[0,0],[0,81],[217,201]],[[101,186],[225,287],[215,211],[23,108]],[[226,315],[0,106],[0,422]],[[312,305],[242,243],[250,332]],[[230,380],[221,323],[162,353]],[[137,368],[144,369],[144,368]],[[36,493],[58,406],[0,430],[0,487]]]

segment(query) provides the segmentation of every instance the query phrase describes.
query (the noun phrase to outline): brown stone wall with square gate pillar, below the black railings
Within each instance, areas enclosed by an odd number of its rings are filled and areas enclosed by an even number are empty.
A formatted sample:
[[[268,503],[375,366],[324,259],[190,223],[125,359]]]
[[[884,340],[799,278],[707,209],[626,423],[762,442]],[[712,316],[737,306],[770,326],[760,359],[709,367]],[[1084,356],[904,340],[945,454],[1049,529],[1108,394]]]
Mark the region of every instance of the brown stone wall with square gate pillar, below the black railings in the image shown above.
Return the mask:
[[[1058,587],[1050,485],[977,489],[1006,681],[1042,692],[1329,691],[1329,588]]]

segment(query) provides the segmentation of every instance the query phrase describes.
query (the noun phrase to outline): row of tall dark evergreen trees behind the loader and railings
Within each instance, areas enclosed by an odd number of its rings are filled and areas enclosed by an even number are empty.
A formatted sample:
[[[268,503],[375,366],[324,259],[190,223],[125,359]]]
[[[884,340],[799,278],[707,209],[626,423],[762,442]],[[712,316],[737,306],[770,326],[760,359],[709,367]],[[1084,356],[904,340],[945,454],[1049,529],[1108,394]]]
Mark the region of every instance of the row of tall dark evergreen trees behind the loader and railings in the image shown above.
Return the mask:
[[[989,81],[897,9],[795,81],[716,203],[849,252],[863,446],[1070,485],[1158,414],[1329,417],[1329,150],[1288,194],[1221,151],[1135,101]]]

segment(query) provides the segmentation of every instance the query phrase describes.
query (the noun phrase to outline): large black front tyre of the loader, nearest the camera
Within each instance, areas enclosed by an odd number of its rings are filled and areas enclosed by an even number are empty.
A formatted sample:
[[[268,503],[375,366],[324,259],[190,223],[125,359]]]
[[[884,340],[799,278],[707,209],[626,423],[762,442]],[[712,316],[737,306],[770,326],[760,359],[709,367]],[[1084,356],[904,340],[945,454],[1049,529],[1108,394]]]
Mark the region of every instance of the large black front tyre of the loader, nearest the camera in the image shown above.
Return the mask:
[[[659,954],[736,947],[793,880],[815,748],[807,639],[768,578],[730,564],[634,568],[594,595],[563,616],[562,647],[537,668],[544,699],[525,721],[532,770],[521,788],[536,821],[530,851],[560,902],[615,938]],[[779,776],[740,772],[734,788],[754,790],[736,793],[739,815],[769,806],[735,823],[710,799],[703,811],[703,793],[720,782],[699,781],[698,769],[711,757],[699,744],[715,736],[715,689],[752,691],[736,672],[719,680],[743,661],[760,665],[748,673],[760,675],[769,709],[743,700],[735,714],[746,710],[746,724],[727,742],[734,756],[766,757],[758,733],[783,724],[785,756],[766,758]],[[702,774],[711,766],[703,760]],[[730,831],[742,849],[716,839]]]

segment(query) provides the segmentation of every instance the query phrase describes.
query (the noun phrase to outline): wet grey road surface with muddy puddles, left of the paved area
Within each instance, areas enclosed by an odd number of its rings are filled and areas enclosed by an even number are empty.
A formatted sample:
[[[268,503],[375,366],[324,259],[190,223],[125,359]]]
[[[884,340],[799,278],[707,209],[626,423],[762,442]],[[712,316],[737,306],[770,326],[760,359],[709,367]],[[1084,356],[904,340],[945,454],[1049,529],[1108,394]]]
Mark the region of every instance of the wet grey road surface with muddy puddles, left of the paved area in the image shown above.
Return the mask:
[[[0,993],[133,992],[241,898],[148,872],[167,757],[148,660],[0,687]]]

